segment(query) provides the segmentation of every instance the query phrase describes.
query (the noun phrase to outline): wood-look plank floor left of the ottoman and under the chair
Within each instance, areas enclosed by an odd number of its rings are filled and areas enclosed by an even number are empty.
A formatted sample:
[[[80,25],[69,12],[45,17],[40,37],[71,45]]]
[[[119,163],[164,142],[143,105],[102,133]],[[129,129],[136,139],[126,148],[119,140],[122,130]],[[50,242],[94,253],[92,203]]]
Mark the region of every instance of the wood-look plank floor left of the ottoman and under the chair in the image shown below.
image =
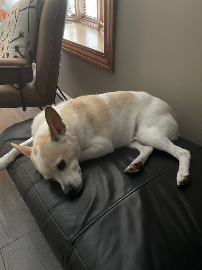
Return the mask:
[[[39,108],[0,109],[0,133]],[[62,270],[7,171],[0,172],[0,270]]]

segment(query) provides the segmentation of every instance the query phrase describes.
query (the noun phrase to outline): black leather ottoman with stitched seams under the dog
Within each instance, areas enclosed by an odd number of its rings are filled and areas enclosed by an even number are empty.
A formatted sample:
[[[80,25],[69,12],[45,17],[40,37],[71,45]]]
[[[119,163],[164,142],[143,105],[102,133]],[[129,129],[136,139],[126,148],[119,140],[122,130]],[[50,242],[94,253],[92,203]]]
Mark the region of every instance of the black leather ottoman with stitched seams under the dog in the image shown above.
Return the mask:
[[[0,155],[30,137],[32,119],[6,129]],[[81,164],[82,191],[65,195],[44,180],[26,156],[8,173],[64,269],[202,269],[202,147],[181,137],[191,152],[191,180],[178,187],[178,161],[154,150],[137,174],[124,169],[139,152],[118,149]]]

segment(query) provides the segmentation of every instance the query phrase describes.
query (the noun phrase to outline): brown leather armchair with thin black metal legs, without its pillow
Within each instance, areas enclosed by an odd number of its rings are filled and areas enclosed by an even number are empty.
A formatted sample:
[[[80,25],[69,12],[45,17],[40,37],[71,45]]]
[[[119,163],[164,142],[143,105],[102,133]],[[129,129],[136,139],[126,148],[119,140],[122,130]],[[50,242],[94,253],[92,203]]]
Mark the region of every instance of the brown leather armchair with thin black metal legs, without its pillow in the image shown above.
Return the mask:
[[[0,108],[52,104],[57,89],[67,0],[46,0],[41,13],[36,63],[0,59]],[[13,84],[19,84],[17,89]]]

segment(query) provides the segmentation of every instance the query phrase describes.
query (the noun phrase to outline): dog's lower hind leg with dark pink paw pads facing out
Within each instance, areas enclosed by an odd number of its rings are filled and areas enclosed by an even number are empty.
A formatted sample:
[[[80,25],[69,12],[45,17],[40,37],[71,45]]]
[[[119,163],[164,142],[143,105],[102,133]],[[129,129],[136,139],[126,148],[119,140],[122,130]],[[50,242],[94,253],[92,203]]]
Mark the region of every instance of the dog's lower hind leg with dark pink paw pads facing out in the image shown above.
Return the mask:
[[[151,155],[154,148],[152,146],[145,146],[139,142],[133,142],[129,145],[131,148],[135,148],[140,152],[140,155],[133,160],[133,162],[126,168],[125,173],[137,173],[144,166],[145,161]]]

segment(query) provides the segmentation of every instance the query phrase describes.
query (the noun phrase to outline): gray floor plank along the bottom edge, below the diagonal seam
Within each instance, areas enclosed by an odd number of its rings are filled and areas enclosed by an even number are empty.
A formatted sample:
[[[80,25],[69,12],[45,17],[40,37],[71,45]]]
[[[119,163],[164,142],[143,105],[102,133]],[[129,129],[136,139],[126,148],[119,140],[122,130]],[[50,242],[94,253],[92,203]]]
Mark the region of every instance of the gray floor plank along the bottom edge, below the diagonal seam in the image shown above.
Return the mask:
[[[9,270],[62,270],[39,228],[0,251]]]

